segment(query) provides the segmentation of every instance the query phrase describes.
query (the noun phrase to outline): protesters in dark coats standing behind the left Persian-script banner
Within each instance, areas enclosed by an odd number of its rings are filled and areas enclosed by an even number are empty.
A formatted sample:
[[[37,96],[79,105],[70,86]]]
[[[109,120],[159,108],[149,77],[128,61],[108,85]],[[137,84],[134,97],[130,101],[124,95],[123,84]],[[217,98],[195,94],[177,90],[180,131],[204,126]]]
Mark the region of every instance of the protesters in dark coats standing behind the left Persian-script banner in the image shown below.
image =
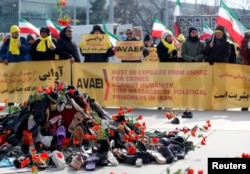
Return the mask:
[[[59,56],[59,57],[57,57]],[[72,28],[65,27],[60,38],[55,40],[48,27],[41,27],[40,37],[20,36],[20,28],[10,27],[10,37],[5,40],[0,50],[0,59],[4,64],[9,62],[68,59],[80,62],[77,45],[72,41]]]

